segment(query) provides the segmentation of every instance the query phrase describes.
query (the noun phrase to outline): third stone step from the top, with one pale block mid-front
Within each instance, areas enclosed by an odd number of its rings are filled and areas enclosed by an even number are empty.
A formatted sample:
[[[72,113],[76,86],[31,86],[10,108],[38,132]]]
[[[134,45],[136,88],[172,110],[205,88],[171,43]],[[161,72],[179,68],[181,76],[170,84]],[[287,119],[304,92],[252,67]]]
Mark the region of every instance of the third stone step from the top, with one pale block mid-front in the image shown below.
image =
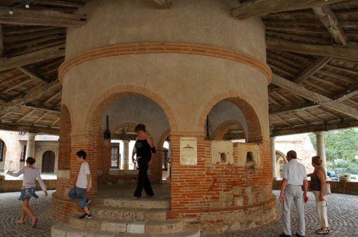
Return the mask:
[[[97,229],[112,232],[130,232],[138,234],[173,234],[183,229],[180,220],[129,220],[106,219],[93,216],[90,219],[79,219],[80,215],[70,217],[69,224],[75,227]]]

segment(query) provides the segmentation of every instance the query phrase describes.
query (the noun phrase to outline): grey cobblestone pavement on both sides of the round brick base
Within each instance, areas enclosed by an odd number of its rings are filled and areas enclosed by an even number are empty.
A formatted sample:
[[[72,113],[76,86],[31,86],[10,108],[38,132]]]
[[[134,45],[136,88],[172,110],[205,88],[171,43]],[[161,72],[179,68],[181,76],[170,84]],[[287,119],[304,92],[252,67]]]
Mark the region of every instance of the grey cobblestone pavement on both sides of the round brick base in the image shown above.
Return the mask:
[[[39,198],[31,198],[30,208],[40,219],[36,228],[31,228],[31,219],[26,216],[26,224],[20,225],[16,221],[21,216],[21,201],[18,201],[20,192],[0,194],[0,236],[1,237],[50,237],[51,225],[51,194],[45,197],[43,192],[38,192]],[[279,196],[280,191],[273,193]],[[314,196],[308,192],[309,202],[305,205],[306,237],[318,237],[314,230],[319,228],[316,217]],[[332,231],[328,237],[358,237],[358,196],[348,194],[332,194],[328,200],[328,221]],[[235,231],[221,234],[201,235],[201,237],[279,237],[282,233],[282,205],[278,201],[277,219],[267,225],[251,228],[246,231]],[[291,230],[297,230],[296,208],[291,209]],[[295,236],[295,235],[293,235]]]

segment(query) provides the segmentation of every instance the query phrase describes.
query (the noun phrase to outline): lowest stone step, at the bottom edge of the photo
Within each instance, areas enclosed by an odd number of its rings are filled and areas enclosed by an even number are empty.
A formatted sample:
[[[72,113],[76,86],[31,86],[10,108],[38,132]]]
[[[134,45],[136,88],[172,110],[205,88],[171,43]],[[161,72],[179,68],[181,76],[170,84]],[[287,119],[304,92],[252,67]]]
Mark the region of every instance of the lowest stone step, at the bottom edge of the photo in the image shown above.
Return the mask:
[[[84,229],[75,226],[57,224],[51,227],[52,237],[200,237],[199,229],[184,229],[172,234],[139,234],[139,233],[124,233],[115,231],[103,231]]]

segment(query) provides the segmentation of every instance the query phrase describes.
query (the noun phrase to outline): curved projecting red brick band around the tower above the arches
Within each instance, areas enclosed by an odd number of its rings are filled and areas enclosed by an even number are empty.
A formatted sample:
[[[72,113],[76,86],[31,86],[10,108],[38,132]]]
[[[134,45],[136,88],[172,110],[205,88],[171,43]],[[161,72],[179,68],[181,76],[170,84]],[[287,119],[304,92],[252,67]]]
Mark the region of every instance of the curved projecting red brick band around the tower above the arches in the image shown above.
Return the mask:
[[[171,54],[190,54],[202,55],[206,57],[220,58],[225,60],[234,61],[237,63],[249,65],[260,71],[267,78],[267,85],[271,83],[272,72],[268,65],[255,57],[223,47],[214,45],[205,45],[198,43],[123,43],[103,46],[100,48],[90,49],[83,51],[70,59],[66,60],[58,70],[58,80],[62,83],[63,76],[71,70],[71,68],[81,65],[85,62],[107,58],[117,57],[124,55],[136,54],[158,54],[158,53],[171,53]]]

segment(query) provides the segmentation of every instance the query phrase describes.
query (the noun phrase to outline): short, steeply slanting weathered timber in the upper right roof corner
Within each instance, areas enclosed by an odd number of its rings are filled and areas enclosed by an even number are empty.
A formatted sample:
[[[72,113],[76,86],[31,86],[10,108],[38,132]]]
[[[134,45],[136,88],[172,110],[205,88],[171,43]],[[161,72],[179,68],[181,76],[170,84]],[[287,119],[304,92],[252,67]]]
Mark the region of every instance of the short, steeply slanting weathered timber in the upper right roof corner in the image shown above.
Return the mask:
[[[313,7],[313,12],[316,16],[321,20],[321,22],[326,26],[327,30],[331,33],[331,37],[334,39],[335,43],[338,45],[347,46],[348,44],[348,37],[342,26],[339,24],[337,18],[335,17],[334,13],[330,6],[320,6],[320,7]]]

